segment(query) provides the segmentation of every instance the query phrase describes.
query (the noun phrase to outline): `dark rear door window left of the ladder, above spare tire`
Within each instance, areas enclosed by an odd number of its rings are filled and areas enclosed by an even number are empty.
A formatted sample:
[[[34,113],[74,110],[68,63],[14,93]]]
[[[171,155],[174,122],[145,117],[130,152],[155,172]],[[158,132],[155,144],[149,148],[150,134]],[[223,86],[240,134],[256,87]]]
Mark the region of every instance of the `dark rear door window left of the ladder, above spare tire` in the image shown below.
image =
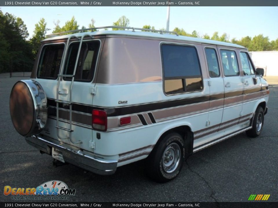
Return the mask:
[[[39,60],[37,77],[57,79],[65,44],[53,44],[43,47]]]

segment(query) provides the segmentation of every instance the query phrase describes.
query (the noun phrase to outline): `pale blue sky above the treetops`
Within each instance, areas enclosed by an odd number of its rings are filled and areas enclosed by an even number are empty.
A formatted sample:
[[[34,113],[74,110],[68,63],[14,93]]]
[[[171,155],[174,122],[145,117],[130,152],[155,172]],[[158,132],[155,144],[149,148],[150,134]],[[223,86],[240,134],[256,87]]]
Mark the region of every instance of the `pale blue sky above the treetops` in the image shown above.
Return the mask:
[[[2,12],[22,18],[30,37],[35,24],[45,18],[47,28],[54,29],[54,21],[59,20],[62,27],[72,16],[79,28],[88,27],[91,19],[95,27],[110,26],[125,15],[130,27],[151,25],[156,29],[166,28],[167,7],[2,7]],[[212,36],[215,31],[219,36],[227,33],[229,40],[263,34],[271,40],[278,38],[278,7],[179,7],[170,8],[169,30],[183,28],[187,33],[196,30],[202,36]],[[47,34],[50,34],[51,31]]]

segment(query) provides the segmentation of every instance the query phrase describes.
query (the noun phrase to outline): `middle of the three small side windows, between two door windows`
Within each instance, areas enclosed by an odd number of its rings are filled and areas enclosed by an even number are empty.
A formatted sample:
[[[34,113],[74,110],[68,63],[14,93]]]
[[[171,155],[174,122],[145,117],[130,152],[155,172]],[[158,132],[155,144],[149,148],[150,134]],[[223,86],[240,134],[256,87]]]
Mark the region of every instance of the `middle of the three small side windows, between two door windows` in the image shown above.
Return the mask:
[[[224,75],[239,76],[237,56],[235,51],[220,50]]]

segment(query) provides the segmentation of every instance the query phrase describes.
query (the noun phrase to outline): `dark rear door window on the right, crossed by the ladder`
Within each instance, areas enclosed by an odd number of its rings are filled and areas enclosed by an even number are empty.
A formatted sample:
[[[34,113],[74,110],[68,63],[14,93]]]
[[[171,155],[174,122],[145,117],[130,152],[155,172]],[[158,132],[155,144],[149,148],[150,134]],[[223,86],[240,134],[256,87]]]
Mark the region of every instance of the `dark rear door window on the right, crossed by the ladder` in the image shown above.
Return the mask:
[[[78,63],[75,72],[75,81],[92,81],[95,68],[96,59],[98,57],[98,49],[100,46],[99,41],[83,42],[81,51],[78,58]],[[78,53],[79,42],[74,42],[69,45],[67,52],[67,58],[65,61],[65,67],[63,74],[72,75],[74,73],[74,66],[76,62],[76,56]],[[65,80],[71,80],[67,77],[63,77]]]

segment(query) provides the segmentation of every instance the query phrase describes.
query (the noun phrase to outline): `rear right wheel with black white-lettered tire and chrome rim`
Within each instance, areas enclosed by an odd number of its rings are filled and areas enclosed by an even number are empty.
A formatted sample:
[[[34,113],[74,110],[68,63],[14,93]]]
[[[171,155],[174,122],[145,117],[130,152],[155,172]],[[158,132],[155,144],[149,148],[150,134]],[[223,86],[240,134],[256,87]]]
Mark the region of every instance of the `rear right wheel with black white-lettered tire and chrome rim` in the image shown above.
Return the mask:
[[[147,173],[153,180],[165,183],[174,179],[185,159],[184,140],[178,133],[165,135],[147,158]]]

